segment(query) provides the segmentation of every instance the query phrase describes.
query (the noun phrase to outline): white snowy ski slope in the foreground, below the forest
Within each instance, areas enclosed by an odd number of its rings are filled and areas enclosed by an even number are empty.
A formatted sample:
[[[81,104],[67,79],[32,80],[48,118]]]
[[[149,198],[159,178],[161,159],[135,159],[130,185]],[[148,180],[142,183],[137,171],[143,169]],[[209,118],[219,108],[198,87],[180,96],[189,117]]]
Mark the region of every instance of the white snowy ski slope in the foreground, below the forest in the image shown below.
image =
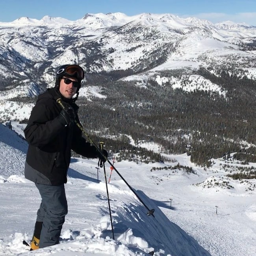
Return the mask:
[[[25,124],[11,125],[16,132],[0,124],[1,256],[143,256],[152,250],[156,256],[256,254],[256,181],[241,183],[225,176],[224,165],[231,160],[214,159],[212,167],[203,169],[186,154],[170,155],[170,162],[165,163],[114,163],[135,192],[112,172],[107,185],[115,239],[104,170],[97,169],[97,160],[72,158],[65,185],[69,213],[61,241],[28,251],[22,241],[32,237],[41,200],[35,185],[23,174],[28,145],[19,135]],[[135,145],[132,137],[130,141]],[[160,150],[154,143],[139,142],[139,146]],[[178,163],[192,167],[196,174],[168,169]],[[230,168],[236,165],[241,166],[234,162]],[[107,180],[109,167],[106,163]],[[154,217],[147,216],[138,197],[147,208],[155,209]]]

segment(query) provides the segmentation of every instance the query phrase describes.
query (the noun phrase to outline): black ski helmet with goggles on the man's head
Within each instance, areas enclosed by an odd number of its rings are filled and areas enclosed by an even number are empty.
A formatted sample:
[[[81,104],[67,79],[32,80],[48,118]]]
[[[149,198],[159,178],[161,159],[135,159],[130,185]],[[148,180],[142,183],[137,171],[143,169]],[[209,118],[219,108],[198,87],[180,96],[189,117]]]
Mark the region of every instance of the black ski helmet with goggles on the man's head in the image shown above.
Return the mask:
[[[81,83],[81,81],[84,78],[84,71],[83,71],[82,67],[80,67],[79,65],[75,65],[75,64],[70,64],[70,65],[67,64],[67,65],[60,66],[56,73],[56,83],[55,83],[56,88],[59,88],[59,82],[63,76],[76,78],[78,80],[78,82]],[[81,87],[81,85],[79,87],[77,87],[76,92],[79,91],[80,87]]]

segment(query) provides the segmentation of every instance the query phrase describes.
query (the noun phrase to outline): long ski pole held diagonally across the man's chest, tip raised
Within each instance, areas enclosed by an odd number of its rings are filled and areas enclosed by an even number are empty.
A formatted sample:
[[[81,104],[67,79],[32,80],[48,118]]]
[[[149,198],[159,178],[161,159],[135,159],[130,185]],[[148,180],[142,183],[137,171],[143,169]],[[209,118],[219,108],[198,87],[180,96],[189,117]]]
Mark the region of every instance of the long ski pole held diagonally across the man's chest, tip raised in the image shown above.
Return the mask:
[[[65,106],[62,104],[61,102],[61,98],[56,100],[60,106],[65,109]],[[116,173],[120,176],[120,178],[124,181],[124,183],[130,188],[130,190],[134,193],[134,195],[139,199],[139,201],[145,206],[145,208],[148,210],[147,215],[150,216],[152,215],[154,216],[154,209],[149,209],[147,207],[147,205],[143,202],[143,200],[141,200],[141,198],[137,195],[137,193],[134,191],[134,189],[128,184],[128,182],[123,178],[123,176],[119,173],[119,171],[117,171],[117,169],[114,167],[114,165],[108,160],[108,158],[106,158],[106,156],[101,152],[100,148],[94,143],[94,141],[91,139],[91,137],[89,136],[89,134],[87,132],[85,132],[85,130],[83,130],[83,127],[81,126],[81,124],[79,124],[76,120],[74,121],[76,123],[76,125],[78,126],[78,128],[82,131],[83,135],[85,135],[87,137],[87,139],[89,140],[89,142],[98,150],[98,152],[100,153],[101,156],[104,157],[104,159],[113,167],[113,169],[116,171]]]

